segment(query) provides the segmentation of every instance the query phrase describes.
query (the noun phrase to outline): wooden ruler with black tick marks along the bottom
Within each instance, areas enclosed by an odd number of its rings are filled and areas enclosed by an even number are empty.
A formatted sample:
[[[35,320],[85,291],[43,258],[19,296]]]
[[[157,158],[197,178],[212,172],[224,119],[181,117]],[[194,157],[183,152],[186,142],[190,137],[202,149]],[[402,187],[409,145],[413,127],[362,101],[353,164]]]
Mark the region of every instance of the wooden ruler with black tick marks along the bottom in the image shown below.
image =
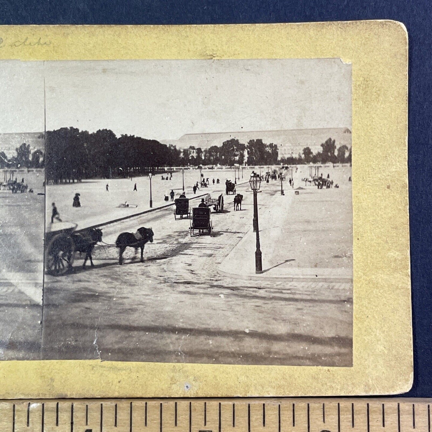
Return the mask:
[[[432,399],[4,400],[0,432],[430,432]]]

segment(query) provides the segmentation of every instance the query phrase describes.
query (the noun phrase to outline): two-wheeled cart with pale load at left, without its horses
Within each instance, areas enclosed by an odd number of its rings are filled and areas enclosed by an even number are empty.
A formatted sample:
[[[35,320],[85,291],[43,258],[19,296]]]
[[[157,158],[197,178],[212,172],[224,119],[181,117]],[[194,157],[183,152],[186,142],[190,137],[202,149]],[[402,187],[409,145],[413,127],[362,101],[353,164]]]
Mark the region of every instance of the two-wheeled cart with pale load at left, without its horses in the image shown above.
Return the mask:
[[[75,244],[72,233],[76,224],[56,222],[51,227],[51,231],[45,232],[45,269],[48,274],[61,276],[73,264]]]

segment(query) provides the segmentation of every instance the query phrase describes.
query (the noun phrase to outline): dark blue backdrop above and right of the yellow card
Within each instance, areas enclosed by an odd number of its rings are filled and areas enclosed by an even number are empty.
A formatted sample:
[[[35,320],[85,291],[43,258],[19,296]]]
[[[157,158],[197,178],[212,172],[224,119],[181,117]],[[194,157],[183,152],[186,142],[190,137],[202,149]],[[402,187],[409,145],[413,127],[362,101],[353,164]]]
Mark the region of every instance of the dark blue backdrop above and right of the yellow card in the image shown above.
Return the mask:
[[[409,35],[409,182],[413,288],[414,386],[432,397],[431,132],[432,6],[430,0],[0,0],[0,24],[231,24],[394,19]],[[388,353],[389,356],[392,353]]]

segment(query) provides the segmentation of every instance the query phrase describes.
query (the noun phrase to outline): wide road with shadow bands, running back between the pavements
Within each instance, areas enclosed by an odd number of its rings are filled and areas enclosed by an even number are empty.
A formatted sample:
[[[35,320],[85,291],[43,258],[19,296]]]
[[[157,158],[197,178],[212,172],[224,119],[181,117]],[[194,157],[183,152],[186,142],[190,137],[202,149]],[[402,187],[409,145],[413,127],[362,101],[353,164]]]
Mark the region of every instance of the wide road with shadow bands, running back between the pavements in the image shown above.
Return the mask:
[[[120,232],[152,227],[155,241],[146,245],[144,263],[137,257],[119,266],[115,248],[97,248],[95,268],[81,270],[76,261],[72,274],[47,276],[42,358],[351,365],[350,284],[217,273],[251,228],[246,186],[237,188],[242,211],[233,211],[232,196],[224,195],[229,213],[212,214],[212,237],[191,238],[189,221],[175,221],[169,207],[104,229],[104,240],[113,243]],[[277,193],[276,183],[264,185],[261,208]]]

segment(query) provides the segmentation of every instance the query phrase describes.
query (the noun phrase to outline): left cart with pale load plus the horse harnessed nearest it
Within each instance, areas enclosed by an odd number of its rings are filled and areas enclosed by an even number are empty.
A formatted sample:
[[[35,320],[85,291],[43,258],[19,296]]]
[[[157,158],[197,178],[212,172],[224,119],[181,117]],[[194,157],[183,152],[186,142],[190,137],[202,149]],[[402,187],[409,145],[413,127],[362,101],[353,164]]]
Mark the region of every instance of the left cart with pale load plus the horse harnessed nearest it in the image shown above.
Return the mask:
[[[45,270],[52,276],[61,276],[72,269],[75,252],[85,252],[83,267],[87,259],[93,267],[92,251],[98,241],[102,241],[102,230],[88,228],[75,232],[76,224],[56,222],[51,231],[45,233]]]

